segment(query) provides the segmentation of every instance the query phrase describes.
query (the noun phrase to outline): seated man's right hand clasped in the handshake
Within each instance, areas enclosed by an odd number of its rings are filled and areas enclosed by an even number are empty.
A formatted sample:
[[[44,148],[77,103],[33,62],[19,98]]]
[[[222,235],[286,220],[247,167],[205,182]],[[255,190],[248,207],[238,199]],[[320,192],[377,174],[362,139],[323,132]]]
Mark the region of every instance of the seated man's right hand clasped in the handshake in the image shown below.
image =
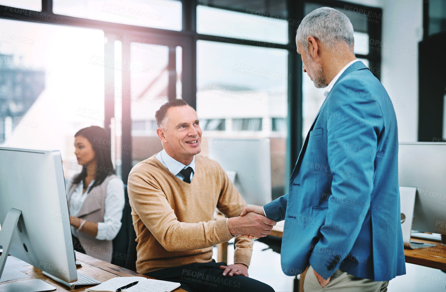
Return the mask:
[[[227,227],[232,235],[246,234],[255,237],[265,237],[271,233],[274,225],[276,225],[276,221],[253,212],[227,220]]]

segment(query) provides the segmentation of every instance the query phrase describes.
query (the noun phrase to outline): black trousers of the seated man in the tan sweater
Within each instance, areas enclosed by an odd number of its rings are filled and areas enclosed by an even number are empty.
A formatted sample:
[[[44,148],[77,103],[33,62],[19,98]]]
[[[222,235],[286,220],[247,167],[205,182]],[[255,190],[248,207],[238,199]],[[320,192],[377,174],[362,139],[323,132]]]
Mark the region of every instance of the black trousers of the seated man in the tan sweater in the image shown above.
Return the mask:
[[[223,276],[220,266],[226,263],[191,263],[179,267],[169,267],[145,274],[157,280],[181,283],[181,288],[189,292],[274,292],[271,286],[242,275]]]

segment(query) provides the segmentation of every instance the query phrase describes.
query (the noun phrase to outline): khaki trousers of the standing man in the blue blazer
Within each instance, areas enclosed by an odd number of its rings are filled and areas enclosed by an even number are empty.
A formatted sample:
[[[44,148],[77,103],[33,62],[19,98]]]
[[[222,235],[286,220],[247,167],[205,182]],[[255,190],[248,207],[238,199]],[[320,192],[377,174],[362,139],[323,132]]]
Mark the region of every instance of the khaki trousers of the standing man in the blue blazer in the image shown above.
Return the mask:
[[[330,283],[322,288],[314,275],[313,267],[310,266],[305,275],[304,292],[386,292],[388,284],[388,281],[375,282],[370,279],[357,278],[337,269],[331,276]]]

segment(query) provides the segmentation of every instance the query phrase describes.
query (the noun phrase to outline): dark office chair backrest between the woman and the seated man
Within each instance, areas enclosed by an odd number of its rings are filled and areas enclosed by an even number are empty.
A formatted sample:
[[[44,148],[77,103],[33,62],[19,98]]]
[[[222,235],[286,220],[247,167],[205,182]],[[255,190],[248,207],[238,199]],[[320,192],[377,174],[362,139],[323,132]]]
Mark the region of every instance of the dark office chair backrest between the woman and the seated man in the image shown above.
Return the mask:
[[[122,212],[121,229],[113,239],[111,263],[136,271],[136,233],[132,222],[132,207],[128,202],[127,185],[124,185],[125,205]]]

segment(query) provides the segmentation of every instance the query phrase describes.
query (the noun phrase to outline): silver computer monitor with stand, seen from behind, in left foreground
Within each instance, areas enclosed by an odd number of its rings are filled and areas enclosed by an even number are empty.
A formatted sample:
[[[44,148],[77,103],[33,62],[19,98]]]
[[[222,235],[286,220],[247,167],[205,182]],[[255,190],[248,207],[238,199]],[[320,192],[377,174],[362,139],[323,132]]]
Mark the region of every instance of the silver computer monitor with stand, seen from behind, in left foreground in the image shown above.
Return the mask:
[[[0,276],[10,254],[63,281],[76,281],[60,152],[0,147],[0,161]]]

